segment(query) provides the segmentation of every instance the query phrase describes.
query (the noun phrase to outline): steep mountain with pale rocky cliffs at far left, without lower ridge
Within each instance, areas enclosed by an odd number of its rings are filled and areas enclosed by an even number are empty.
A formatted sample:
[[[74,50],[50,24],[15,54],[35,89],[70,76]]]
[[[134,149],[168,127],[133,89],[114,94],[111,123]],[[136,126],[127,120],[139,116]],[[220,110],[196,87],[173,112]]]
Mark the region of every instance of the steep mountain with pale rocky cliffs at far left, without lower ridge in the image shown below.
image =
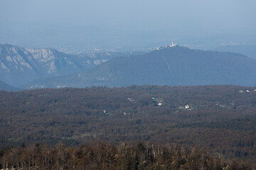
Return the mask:
[[[14,45],[0,45],[1,80],[19,86],[41,77],[67,75],[83,70],[79,64],[57,50],[28,49]]]

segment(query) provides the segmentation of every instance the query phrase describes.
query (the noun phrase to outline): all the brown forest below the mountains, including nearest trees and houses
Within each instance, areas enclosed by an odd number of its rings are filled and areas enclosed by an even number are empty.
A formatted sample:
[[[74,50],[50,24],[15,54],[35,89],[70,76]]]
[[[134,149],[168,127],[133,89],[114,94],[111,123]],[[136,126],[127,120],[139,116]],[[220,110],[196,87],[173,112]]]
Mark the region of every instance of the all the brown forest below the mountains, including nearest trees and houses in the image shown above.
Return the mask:
[[[0,127],[1,169],[256,165],[254,87],[1,91]]]

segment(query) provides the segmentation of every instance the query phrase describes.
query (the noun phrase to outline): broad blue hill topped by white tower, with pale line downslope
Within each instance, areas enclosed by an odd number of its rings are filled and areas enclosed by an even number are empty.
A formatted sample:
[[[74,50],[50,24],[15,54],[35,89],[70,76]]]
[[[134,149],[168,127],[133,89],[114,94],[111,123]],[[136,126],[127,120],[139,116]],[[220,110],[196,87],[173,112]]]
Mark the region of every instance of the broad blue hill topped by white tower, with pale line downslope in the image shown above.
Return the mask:
[[[161,47],[145,55],[114,58],[80,74],[51,77],[26,85],[38,87],[87,87],[210,84],[256,85],[256,60],[230,52]]]

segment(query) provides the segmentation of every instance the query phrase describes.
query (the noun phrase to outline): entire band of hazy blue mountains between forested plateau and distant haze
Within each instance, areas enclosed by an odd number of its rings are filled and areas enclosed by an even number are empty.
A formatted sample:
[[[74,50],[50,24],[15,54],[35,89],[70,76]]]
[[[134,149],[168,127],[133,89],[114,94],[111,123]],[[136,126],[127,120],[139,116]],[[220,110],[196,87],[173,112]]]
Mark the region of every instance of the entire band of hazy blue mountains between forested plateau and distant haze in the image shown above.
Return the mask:
[[[235,48],[237,52],[245,51]],[[240,50],[239,50],[240,49]],[[255,86],[256,61],[230,52],[160,47],[151,52],[66,55],[53,49],[1,45],[1,81],[19,89],[232,84]],[[245,53],[245,52],[244,52]]]

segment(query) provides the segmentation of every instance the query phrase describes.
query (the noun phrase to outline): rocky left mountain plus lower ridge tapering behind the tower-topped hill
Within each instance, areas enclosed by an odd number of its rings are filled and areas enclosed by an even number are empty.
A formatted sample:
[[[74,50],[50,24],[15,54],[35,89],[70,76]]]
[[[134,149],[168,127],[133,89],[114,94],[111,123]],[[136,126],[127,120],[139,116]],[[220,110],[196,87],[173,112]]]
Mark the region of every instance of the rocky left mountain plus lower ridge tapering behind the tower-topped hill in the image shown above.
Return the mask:
[[[21,86],[44,77],[76,74],[128,53],[99,52],[66,55],[51,48],[29,49],[0,45],[0,81]]]

